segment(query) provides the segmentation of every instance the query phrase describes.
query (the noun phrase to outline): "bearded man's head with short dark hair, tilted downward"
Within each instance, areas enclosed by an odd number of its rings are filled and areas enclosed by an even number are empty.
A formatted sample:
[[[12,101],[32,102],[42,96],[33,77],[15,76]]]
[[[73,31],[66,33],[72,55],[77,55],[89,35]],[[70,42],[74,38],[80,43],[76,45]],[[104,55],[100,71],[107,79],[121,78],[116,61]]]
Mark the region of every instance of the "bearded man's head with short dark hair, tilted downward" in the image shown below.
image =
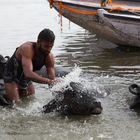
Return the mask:
[[[50,29],[43,29],[37,39],[39,49],[43,53],[50,53],[55,40],[55,35]]]

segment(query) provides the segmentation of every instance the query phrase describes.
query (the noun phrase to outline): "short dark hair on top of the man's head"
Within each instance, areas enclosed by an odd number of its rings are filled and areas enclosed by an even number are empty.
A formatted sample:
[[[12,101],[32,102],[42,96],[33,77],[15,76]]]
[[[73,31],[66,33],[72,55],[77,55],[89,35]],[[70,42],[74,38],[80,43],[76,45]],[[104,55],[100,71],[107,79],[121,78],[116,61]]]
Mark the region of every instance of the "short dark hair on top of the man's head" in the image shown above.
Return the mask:
[[[55,35],[50,29],[43,29],[38,35],[38,40],[48,40],[50,42],[54,42]]]

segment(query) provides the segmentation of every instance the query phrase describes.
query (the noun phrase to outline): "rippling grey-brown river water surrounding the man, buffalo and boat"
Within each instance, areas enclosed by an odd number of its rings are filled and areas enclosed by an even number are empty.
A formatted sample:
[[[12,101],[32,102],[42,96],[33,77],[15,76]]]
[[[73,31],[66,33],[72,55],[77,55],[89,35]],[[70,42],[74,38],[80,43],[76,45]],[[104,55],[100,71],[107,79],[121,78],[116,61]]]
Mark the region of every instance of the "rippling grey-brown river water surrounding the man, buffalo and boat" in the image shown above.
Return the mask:
[[[46,0],[0,0],[0,53],[12,55],[26,41],[50,28],[56,34],[53,54],[58,65],[72,68],[64,82],[80,81],[109,95],[101,98],[98,116],[62,117],[42,114],[53,97],[47,85],[35,84],[34,99],[14,109],[0,108],[4,140],[139,140],[140,115],[129,109],[132,83],[140,83],[140,52],[117,48],[95,34],[62,19]],[[59,86],[56,88],[59,89]],[[104,94],[105,95],[105,94]]]

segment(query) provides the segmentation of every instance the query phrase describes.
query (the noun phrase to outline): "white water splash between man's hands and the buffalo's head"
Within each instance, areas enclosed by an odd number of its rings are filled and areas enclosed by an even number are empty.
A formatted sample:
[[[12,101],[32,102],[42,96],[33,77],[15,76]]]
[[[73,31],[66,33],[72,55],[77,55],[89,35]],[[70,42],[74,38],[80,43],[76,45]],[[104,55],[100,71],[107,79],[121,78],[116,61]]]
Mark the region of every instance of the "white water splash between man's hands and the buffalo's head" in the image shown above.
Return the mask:
[[[57,91],[63,91],[67,88],[70,88],[70,82],[79,82],[82,83],[83,86],[88,89],[91,93],[93,93],[96,97],[104,98],[107,95],[110,94],[110,90],[106,89],[102,84],[100,84],[98,81],[100,79],[106,79],[106,77],[93,77],[92,81],[89,81],[88,77],[81,77],[80,74],[82,73],[82,69],[75,65],[72,72],[70,72],[65,77],[61,78],[61,82],[54,85],[50,90],[52,94],[55,96],[57,94]],[[56,94],[55,94],[56,93]]]

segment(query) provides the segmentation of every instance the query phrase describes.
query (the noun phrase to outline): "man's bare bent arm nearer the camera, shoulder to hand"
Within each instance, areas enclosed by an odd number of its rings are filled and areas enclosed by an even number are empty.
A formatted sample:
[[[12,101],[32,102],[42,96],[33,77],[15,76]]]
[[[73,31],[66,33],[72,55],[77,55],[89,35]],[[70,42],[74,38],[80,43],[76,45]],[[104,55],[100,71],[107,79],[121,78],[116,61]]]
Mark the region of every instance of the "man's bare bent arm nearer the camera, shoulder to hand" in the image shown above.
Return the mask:
[[[37,73],[33,72],[32,47],[22,46],[21,51],[22,51],[21,61],[25,77],[37,83],[52,84],[54,82],[53,80],[44,78],[38,75]]]

